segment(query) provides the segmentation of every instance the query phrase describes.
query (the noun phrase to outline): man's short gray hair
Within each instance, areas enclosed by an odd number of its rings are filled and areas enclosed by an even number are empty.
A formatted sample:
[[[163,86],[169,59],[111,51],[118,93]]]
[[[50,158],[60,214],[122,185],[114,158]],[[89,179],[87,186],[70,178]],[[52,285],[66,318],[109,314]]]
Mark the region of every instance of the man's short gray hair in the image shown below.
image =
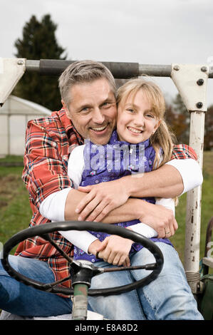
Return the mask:
[[[68,106],[71,102],[71,86],[78,83],[89,83],[100,78],[105,78],[108,81],[115,94],[115,79],[102,63],[96,61],[76,61],[71,63],[58,78],[62,100]]]

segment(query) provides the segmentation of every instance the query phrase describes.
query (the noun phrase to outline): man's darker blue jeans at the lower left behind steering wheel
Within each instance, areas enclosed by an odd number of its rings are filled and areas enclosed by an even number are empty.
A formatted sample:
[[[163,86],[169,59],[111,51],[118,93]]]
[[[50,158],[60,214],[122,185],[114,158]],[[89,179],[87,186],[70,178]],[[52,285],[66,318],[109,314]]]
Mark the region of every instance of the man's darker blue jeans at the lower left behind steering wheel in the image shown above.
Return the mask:
[[[38,282],[55,282],[54,274],[46,262],[38,259],[9,256],[16,271]],[[11,278],[0,261],[0,309],[20,316],[56,316],[72,312],[70,298],[42,292]]]

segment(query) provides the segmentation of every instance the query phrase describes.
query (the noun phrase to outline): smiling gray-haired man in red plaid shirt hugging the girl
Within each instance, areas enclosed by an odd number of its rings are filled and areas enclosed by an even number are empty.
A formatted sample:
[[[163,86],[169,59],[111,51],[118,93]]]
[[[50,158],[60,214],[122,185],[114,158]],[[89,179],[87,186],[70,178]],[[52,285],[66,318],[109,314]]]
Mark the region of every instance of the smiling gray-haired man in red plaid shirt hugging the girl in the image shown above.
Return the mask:
[[[159,237],[165,237],[168,231],[169,236],[174,234],[177,222],[170,210],[134,197],[175,197],[200,185],[202,175],[193,150],[185,145],[177,146],[174,159],[159,170],[145,174],[141,182],[137,178],[118,180],[119,192],[115,187],[113,190],[109,187],[108,199],[102,201],[104,195],[99,189],[90,199],[90,193],[87,195],[73,189],[72,180],[67,175],[68,155],[74,146],[83,144],[85,138],[97,144],[108,143],[115,128],[115,81],[102,64],[80,61],[68,66],[62,73],[59,86],[63,109],[52,113],[50,118],[31,120],[26,131],[23,180],[33,211],[31,226],[50,220],[87,219],[115,223],[142,217],[143,222],[152,224]],[[196,170],[194,176],[189,172],[192,168]],[[55,232],[52,238],[61,244],[66,253],[72,254],[71,243],[61,234]],[[95,252],[95,242],[89,247],[90,252]],[[16,256],[11,257],[12,267],[27,277],[40,282],[53,282],[54,278],[58,280],[68,276],[66,259],[40,237],[19,244]],[[26,287],[9,277],[4,270],[0,274],[1,309],[22,316],[71,312],[71,299]],[[71,282],[66,281],[63,285],[70,287]],[[127,302],[131,301],[128,294],[125,297]],[[119,298],[117,301],[119,304]],[[108,315],[108,311],[105,312]],[[128,315],[125,317],[128,318]],[[117,314],[117,317],[120,316]],[[137,318],[140,317],[143,318],[139,312]]]

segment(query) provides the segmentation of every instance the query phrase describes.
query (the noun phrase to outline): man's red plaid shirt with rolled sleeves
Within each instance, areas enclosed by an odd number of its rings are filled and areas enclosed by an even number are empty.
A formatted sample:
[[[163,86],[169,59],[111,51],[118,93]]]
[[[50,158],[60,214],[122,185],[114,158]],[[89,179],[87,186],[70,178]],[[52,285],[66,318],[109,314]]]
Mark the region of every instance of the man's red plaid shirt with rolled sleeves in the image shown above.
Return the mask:
[[[68,155],[71,147],[83,144],[83,138],[73,127],[65,111],[53,112],[51,117],[39,118],[28,122],[26,130],[26,152],[24,155],[23,180],[29,192],[29,200],[33,217],[30,227],[43,225],[50,220],[42,217],[39,212],[41,202],[53,192],[73,187],[67,175]],[[197,159],[196,153],[187,145],[176,145],[172,159]],[[70,256],[73,245],[58,232],[51,234],[60,247]],[[68,262],[49,242],[41,237],[33,237],[21,242],[16,255],[32,257],[48,262],[55,279],[69,275]],[[70,280],[63,282],[71,286]]]

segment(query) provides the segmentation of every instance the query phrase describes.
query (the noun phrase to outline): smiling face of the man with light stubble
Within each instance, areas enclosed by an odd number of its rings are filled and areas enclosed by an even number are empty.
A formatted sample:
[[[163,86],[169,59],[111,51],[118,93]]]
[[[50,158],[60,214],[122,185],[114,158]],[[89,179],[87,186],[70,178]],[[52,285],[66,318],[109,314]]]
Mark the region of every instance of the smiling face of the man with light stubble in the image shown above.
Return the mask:
[[[105,78],[91,83],[79,83],[71,88],[71,103],[66,115],[72,120],[78,133],[95,144],[105,145],[115,128],[116,101]]]

